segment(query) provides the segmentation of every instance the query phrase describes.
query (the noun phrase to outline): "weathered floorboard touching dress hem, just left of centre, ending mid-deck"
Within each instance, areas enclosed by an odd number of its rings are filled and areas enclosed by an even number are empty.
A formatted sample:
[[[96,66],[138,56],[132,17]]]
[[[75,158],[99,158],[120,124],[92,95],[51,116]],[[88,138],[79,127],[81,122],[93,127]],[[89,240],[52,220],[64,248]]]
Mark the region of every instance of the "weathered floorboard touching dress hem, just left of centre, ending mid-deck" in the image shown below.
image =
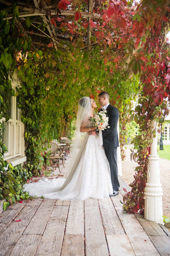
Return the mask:
[[[66,234],[84,235],[84,201],[70,202]]]

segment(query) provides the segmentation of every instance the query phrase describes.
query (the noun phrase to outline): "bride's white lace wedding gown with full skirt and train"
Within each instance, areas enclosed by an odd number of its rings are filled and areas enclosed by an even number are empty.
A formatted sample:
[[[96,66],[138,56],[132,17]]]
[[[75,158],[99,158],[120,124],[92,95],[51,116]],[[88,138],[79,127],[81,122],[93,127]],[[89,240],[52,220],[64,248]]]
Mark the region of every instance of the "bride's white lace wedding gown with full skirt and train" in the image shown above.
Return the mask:
[[[91,127],[90,121],[86,127]],[[75,169],[68,184],[60,191],[66,179],[47,178],[36,183],[24,184],[24,191],[31,196],[43,196],[49,199],[84,200],[86,198],[103,199],[113,194],[113,187],[106,154],[99,144],[99,135],[86,133],[81,151],[74,163]]]

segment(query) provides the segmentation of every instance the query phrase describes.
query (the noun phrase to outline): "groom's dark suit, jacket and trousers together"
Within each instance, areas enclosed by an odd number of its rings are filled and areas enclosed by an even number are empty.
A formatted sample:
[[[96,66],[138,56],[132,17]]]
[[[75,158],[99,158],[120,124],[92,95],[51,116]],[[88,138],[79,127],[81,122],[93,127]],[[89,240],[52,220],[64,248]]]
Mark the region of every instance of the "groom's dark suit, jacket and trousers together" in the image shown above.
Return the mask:
[[[107,116],[109,117],[108,124],[110,128],[102,131],[103,147],[110,164],[110,174],[113,190],[119,191],[119,180],[117,172],[117,147],[119,147],[119,139],[117,134],[117,121],[119,119],[119,111],[112,105],[107,107]],[[102,110],[101,110],[102,111]]]

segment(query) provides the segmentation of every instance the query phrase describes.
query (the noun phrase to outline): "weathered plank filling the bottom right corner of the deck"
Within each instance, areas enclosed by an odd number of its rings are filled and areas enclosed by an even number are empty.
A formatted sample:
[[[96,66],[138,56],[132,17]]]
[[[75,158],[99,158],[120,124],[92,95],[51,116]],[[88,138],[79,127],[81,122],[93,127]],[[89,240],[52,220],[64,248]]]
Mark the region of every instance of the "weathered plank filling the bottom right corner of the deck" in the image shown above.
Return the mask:
[[[170,255],[170,237],[169,236],[149,236],[152,243],[161,254],[161,256]]]

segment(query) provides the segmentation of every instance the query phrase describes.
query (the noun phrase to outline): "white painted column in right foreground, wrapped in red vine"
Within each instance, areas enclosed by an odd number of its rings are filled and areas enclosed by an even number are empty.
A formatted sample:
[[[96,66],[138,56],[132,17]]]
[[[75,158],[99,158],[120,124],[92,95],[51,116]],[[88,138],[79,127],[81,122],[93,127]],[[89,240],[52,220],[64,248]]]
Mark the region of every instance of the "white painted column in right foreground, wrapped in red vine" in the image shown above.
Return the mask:
[[[151,132],[156,128],[156,137],[150,145],[150,155],[148,157],[147,183],[144,192],[144,218],[163,224],[163,193],[162,184],[160,182],[159,155],[157,155],[157,122],[151,121],[151,127]]]

